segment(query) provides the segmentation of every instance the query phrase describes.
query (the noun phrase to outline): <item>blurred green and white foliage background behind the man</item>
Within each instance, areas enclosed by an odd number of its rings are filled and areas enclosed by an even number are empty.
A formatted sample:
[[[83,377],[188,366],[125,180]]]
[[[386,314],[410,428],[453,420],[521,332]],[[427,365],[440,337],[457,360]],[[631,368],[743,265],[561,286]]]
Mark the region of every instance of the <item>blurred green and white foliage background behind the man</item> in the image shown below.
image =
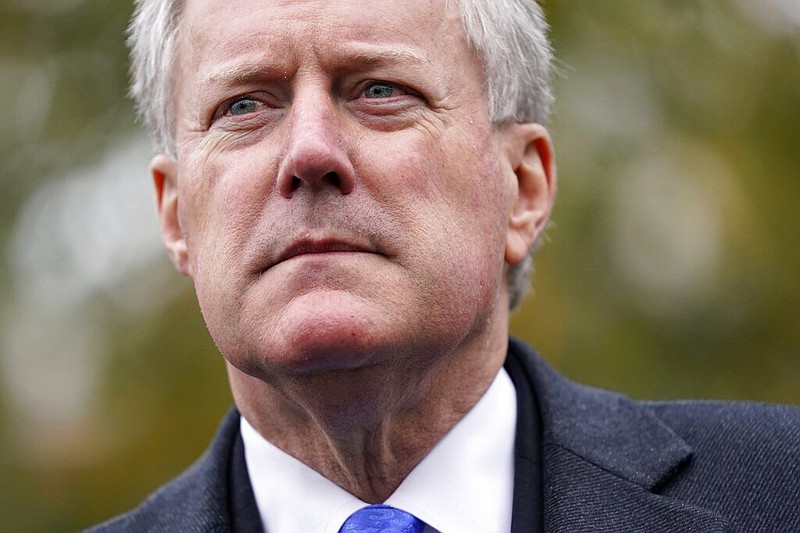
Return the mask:
[[[513,332],[641,398],[800,404],[800,2],[548,0],[560,191]],[[72,531],[230,396],[155,225],[132,6],[0,0],[0,517]]]

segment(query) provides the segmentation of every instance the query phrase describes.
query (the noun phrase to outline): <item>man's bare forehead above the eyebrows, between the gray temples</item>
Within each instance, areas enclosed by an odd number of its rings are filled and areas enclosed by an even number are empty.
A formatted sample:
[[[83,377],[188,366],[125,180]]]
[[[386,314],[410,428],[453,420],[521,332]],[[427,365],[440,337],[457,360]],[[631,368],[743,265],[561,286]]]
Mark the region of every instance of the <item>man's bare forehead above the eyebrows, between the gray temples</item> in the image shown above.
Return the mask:
[[[181,56],[192,68],[233,56],[260,55],[290,63],[299,55],[378,48],[396,59],[429,60],[468,52],[457,5],[448,0],[187,0]],[[429,57],[430,56],[430,57]]]

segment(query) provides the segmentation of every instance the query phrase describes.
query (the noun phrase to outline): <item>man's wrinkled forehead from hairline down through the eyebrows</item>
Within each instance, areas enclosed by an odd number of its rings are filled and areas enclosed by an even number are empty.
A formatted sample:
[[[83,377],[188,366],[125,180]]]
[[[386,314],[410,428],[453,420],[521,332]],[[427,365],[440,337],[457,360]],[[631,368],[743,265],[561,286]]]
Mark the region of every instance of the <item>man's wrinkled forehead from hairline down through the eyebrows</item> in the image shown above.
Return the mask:
[[[173,116],[196,121],[205,112],[203,102],[226,87],[276,86],[280,80],[293,85],[308,80],[296,76],[308,72],[330,81],[355,73],[425,80],[442,94],[468,92],[488,108],[483,66],[467,44],[455,2],[376,5],[374,0],[188,0],[173,71]]]

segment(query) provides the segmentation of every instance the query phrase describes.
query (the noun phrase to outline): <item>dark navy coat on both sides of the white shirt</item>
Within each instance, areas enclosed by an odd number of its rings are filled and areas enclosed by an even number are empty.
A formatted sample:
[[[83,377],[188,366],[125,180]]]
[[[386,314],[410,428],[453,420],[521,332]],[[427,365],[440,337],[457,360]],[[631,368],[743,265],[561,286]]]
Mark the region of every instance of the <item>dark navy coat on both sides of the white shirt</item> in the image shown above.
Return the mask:
[[[800,409],[636,402],[565,379],[514,340],[506,369],[519,403],[513,533],[800,533]],[[93,531],[259,530],[234,410],[189,470]]]

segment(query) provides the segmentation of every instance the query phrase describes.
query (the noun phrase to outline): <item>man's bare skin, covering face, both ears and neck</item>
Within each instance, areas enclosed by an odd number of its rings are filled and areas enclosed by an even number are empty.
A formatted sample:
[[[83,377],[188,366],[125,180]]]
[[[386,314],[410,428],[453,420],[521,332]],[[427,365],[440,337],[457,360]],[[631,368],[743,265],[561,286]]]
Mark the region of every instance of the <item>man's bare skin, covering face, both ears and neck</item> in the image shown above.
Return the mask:
[[[165,245],[242,415],[384,501],[502,366],[547,132],[490,124],[440,0],[189,0],[181,24]]]

